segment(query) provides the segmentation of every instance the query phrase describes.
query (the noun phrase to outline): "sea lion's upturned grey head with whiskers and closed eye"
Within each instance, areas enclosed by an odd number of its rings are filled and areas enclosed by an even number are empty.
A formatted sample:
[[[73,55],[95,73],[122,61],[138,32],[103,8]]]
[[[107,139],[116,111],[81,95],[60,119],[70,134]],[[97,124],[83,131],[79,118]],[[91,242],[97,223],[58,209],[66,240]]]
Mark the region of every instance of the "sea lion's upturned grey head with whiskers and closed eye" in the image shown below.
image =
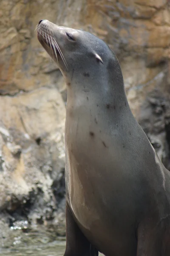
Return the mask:
[[[40,20],[37,37],[59,67],[67,84],[73,80],[75,84],[76,79],[101,80],[101,77],[106,77],[106,73],[112,71],[122,76],[113,51],[104,41],[89,32]]]

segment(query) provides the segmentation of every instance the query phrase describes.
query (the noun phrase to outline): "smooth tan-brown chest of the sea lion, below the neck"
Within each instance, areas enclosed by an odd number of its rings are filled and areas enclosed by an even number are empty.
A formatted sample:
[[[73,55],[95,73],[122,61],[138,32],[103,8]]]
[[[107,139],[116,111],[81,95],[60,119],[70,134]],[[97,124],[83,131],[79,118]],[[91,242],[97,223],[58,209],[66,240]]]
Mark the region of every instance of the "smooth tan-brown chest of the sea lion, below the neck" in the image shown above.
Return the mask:
[[[120,164],[125,153],[123,147],[128,150],[128,142],[122,137],[127,136],[120,134],[122,122],[116,118],[114,123],[97,104],[88,107],[81,101],[77,107],[67,109],[66,190],[71,210],[83,231],[93,233],[96,227],[102,230],[110,226],[106,218],[101,221],[106,214],[113,221],[121,220],[120,211],[123,212],[119,207],[128,207],[134,215],[136,198],[127,206],[133,183],[130,189],[125,187],[132,177],[125,175],[124,165]]]

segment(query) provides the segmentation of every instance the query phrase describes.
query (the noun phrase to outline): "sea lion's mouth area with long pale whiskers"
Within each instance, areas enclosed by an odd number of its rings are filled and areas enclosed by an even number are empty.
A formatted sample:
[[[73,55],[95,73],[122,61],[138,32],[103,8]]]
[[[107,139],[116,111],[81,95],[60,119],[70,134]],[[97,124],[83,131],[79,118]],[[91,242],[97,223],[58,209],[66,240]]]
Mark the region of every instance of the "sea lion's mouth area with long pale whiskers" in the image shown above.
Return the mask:
[[[48,49],[50,49],[50,52],[52,54],[51,57],[53,58],[53,60],[56,58],[58,64],[58,56],[60,56],[62,58],[63,63],[65,64],[66,69],[68,70],[68,64],[55,38],[52,35],[50,35],[47,31],[44,31],[41,28],[40,23],[36,26],[35,30],[37,30],[37,38],[42,47],[45,48],[45,46],[47,46]]]

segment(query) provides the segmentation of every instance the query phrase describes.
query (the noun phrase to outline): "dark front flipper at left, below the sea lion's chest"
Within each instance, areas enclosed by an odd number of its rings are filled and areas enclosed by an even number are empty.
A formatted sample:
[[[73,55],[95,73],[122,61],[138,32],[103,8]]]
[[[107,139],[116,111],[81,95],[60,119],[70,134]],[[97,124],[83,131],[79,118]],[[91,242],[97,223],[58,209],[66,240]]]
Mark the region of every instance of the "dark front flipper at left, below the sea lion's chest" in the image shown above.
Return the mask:
[[[83,235],[66,205],[66,248],[64,256],[98,256],[98,251]]]

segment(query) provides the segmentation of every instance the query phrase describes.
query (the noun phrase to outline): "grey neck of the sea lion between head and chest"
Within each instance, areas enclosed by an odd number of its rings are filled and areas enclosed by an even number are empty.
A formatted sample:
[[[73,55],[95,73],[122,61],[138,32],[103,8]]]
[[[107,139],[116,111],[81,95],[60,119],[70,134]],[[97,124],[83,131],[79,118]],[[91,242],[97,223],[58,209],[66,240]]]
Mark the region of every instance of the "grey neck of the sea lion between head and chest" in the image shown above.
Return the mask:
[[[115,68],[112,61],[108,61],[106,67],[102,67],[100,70],[98,67],[96,69],[89,66],[80,67],[79,70],[73,70],[71,78],[65,79],[68,107],[74,108],[74,105],[91,104],[91,108],[93,108],[98,101],[107,108],[111,107],[117,110],[128,108],[130,111],[122,72],[118,64]],[[94,101],[93,98],[96,100]]]

